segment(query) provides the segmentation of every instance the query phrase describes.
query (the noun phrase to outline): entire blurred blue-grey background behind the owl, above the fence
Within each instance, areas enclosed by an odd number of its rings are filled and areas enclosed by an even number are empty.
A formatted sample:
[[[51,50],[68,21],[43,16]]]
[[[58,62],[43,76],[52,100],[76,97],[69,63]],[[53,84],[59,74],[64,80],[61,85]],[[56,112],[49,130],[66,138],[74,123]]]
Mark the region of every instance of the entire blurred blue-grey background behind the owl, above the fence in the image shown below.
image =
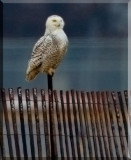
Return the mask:
[[[54,89],[127,89],[128,4],[4,3],[4,87],[45,88],[46,75],[25,81],[28,59],[52,14],[65,20],[69,49],[54,76]]]

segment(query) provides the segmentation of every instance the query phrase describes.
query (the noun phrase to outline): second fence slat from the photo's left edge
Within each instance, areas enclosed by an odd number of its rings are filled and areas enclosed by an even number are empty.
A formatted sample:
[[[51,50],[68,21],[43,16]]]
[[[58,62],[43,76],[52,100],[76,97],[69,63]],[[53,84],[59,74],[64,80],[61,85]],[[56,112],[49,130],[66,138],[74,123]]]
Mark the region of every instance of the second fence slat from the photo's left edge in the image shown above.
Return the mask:
[[[14,129],[16,156],[17,156],[17,160],[21,160],[19,137],[18,137],[18,130],[17,130],[17,122],[16,122],[15,103],[14,103],[14,93],[13,93],[13,89],[12,88],[9,88],[9,98],[10,98],[12,122],[13,122],[13,129]]]

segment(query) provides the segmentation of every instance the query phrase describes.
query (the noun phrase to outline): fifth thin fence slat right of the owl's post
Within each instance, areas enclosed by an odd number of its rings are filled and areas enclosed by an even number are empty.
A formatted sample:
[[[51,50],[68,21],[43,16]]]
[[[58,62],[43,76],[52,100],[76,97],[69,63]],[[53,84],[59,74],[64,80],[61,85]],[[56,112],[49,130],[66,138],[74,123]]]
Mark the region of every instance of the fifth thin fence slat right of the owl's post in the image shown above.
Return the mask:
[[[82,138],[83,151],[84,151],[84,160],[86,160],[87,159],[87,147],[86,147],[86,143],[84,140],[85,135],[83,134],[83,123],[82,123],[82,116],[83,115],[82,115],[82,111],[81,111],[80,96],[79,96],[78,91],[76,91],[76,97],[77,97],[77,105],[78,105],[78,112],[79,112],[79,119],[80,119],[80,129],[81,129],[81,138]],[[88,157],[90,157],[90,155],[88,155]]]

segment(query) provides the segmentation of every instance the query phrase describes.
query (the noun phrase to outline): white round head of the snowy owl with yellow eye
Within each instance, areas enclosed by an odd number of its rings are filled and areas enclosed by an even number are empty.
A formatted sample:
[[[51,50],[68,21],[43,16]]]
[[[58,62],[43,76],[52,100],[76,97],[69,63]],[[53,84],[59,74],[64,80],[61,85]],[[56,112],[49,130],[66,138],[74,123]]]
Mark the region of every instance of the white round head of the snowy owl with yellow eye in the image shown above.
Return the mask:
[[[52,15],[47,18],[46,28],[51,31],[56,30],[56,29],[63,29],[64,24],[65,23],[62,17],[57,16],[57,15]]]

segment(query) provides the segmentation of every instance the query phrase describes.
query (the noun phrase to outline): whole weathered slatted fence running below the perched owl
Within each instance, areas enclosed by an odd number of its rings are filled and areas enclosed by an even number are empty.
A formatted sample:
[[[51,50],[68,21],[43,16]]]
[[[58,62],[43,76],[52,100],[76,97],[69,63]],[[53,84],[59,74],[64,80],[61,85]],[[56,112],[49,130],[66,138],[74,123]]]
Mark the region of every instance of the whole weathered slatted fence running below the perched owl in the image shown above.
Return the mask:
[[[47,92],[10,88],[1,89],[1,103],[3,160],[50,159],[52,149],[57,159],[124,159],[131,155],[127,91]]]

